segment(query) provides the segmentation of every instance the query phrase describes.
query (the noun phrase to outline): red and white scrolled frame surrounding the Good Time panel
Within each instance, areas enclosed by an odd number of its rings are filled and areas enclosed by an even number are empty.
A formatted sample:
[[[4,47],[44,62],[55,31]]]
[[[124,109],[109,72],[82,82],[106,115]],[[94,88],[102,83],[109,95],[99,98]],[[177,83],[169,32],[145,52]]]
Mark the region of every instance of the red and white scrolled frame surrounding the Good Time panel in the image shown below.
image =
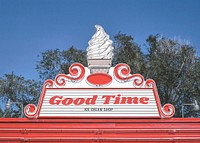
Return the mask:
[[[108,81],[107,77],[108,76],[112,76],[112,75],[106,75],[106,74],[103,74],[101,75],[101,80],[91,80],[91,81],[95,81],[95,83],[90,83],[88,84],[89,87],[85,87],[85,88],[79,88],[80,87],[80,84],[78,86],[75,86],[73,88],[71,88],[69,85],[70,84],[78,84],[79,81],[81,80],[86,80],[86,81],[83,81],[83,82],[88,82],[87,79],[88,77],[90,77],[90,75],[86,75],[86,68],[80,64],[80,63],[75,63],[75,64],[72,64],[72,66],[69,68],[69,75],[65,75],[65,74],[59,74],[58,76],[56,76],[55,78],[55,81],[53,80],[47,80],[45,83],[44,83],[44,86],[43,86],[43,90],[42,90],[42,94],[40,96],[40,100],[39,100],[39,103],[38,103],[38,107],[36,107],[35,105],[33,104],[28,104],[25,108],[24,108],[24,113],[26,115],[26,117],[28,118],[75,118],[74,116],[70,116],[70,117],[66,117],[66,116],[56,116],[52,113],[52,116],[41,116],[41,108],[42,108],[42,105],[44,103],[44,98],[45,98],[45,95],[46,95],[46,91],[47,90],[51,90],[51,89],[56,89],[56,90],[70,90],[70,89],[76,89],[77,91],[78,90],[109,90],[109,89],[112,89],[112,90],[126,90],[126,89],[131,89],[131,90],[146,90],[146,89],[152,89],[153,90],[153,94],[154,94],[154,99],[156,101],[156,106],[157,106],[157,109],[158,109],[158,113],[159,113],[159,116],[130,116],[130,117],[122,117],[122,116],[114,116],[114,118],[170,118],[174,115],[175,113],[175,109],[174,109],[174,106],[171,105],[171,104],[165,104],[163,107],[161,107],[161,103],[160,103],[160,99],[159,99],[159,95],[158,95],[158,92],[157,92],[157,88],[156,88],[156,83],[154,82],[154,80],[152,79],[147,79],[146,81],[144,80],[144,77],[140,74],[133,74],[131,75],[130,74],[130,68],[127,64],[118,64],[115,66],[114,68],[114,73],[113,73],[113,79],[111,77],[111,82],[116,82],[119,84],[119,85],[123,85],[124,83],[127,83],[127,82],[131,82],[131,80],[133,81],[133,87],[124,87],[124,88],[120,88],[120,87],[115,87],[115,85],[113,86],[112,84],[109,86],[107,83],[105,83],[106,85],[102,85],[102,84],[98,84],[98,85],[95,85],[97,84],[97,82],[100,82],[100,83],[104,83],[102,82],[102,80],[106,79],[106,81]],[[103,78],[105,77],[105,78]],[[92,78],[99,78],[99,74],[95,74],[95,75],[92,75]],[[91,79],[91,78],[90,78]],[[71,83],[70,83],[70,82]],[[91,85],[93,84],[93,85]],[[119,86],[118,85],[118,86]],[[69,87],[68,87],[69,86]],[[93,87],[92,87],[93,86]],[[102,86],[105,86],[105,87],[102,87]],[[86,116],[81,116],[81,117],[78,117],[78,118],[97,118],[96,116],[89,116],[89,117],[86,117]],[[113,118],[113,116],[100,116],[98,118]]]

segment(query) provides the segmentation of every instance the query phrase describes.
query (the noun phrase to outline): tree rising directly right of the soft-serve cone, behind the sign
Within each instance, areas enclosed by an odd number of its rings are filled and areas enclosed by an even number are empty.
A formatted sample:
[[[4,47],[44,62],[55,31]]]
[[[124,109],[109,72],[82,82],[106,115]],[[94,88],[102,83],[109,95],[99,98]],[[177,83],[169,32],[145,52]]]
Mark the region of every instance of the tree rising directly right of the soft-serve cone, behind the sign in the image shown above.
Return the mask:
[[[144,73],[145,59],[141,48],[134,42],[132,36],[118,33],[114,36],[114,60],[113,64],[126,63],[134,73]]]

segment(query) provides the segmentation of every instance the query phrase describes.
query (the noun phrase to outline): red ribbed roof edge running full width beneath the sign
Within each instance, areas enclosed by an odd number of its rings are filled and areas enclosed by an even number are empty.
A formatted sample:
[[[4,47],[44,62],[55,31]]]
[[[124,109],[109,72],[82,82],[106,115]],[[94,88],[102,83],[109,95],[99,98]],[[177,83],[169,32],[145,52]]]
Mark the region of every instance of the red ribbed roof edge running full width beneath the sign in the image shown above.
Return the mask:
[[[0,119],[0,142],[200,142],[200,119]]]

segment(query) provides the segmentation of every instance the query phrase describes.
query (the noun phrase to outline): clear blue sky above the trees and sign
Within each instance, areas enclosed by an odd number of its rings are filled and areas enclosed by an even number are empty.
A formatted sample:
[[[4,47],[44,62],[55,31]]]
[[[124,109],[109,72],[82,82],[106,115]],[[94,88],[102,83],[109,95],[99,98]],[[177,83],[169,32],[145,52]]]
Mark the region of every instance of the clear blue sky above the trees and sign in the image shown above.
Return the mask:
[[[0,0],[0,76],[37,79],[41,52],[85,50],[95,24],[140,45],[157,33],[187,40],[200,54],[199,0]]]

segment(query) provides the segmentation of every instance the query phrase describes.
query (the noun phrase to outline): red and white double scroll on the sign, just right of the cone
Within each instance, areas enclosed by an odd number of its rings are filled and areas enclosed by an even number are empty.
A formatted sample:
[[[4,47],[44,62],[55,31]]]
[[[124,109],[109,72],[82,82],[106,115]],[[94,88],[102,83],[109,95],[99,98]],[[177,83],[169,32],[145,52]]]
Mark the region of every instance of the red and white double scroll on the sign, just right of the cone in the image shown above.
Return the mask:
[[[133,86],[141,87],[144,84],[144,77],[140,74],[130,74],[131,69],[127,64],[118,64],[114,68],[114,77],[119,82],[133,80]]]

